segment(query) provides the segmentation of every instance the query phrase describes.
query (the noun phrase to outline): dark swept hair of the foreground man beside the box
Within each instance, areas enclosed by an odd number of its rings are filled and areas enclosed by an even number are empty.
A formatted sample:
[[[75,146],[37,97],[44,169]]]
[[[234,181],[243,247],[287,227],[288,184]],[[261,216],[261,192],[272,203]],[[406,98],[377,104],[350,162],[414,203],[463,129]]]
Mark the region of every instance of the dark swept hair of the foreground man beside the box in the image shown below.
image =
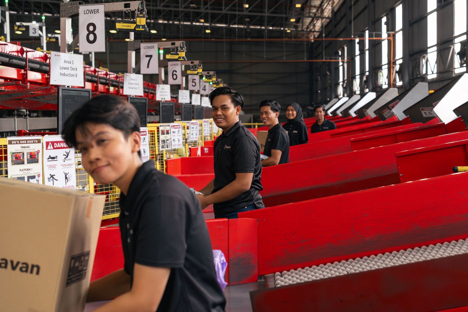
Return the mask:
[[[140,131],[140,117],[136,108],[123,97],[100,95],[91,98],[66,119],[62,137],[68,146],[76,146],[75,131],[86,133],[87,123],[106,124],[122,131],[127,139],[133,132]]]

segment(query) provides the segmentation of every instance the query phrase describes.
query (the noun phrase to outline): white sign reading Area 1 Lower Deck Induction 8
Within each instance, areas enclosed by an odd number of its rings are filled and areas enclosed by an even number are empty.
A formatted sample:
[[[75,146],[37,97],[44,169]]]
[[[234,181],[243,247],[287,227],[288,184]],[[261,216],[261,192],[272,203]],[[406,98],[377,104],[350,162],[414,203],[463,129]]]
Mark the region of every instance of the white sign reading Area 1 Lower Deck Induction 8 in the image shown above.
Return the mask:
[[[51,84],[84,87],[83,55],[52,51]]]

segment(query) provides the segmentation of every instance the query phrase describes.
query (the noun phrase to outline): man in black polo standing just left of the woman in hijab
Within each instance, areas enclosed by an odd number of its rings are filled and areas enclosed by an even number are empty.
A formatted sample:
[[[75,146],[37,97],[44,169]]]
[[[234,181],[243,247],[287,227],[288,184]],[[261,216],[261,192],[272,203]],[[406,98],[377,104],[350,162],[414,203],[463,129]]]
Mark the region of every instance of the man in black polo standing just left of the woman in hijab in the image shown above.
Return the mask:
[[[262,160],[262,166],[274,166],[289,163],[289,136],[278,121],[281,106],[278,102],[265,100],[260,103],[260,119],[268,127],[263,155],[268,158]]]

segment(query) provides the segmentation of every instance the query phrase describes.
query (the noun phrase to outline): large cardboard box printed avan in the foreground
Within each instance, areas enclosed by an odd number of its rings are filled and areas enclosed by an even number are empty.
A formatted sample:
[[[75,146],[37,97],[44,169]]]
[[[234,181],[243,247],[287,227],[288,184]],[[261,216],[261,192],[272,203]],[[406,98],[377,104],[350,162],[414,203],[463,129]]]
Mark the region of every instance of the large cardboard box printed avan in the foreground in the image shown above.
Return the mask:
[[[0,178],[0,312],[82,312],[105,197]]]

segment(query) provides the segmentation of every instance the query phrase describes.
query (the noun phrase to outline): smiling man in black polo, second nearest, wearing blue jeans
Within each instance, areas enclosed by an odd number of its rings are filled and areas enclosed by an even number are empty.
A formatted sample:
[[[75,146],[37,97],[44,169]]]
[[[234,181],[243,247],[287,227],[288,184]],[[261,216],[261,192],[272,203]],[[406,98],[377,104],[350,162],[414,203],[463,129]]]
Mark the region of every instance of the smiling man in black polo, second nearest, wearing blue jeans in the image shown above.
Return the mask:
[[[223,133],[216,139],[214,179],[197,195],[202,208],[213,204],[215,218],[237,218],[239,212],[265,207],[260,191],[262,165],[256,137],[239,121],[244,99],[229,87],[210,95],[211,116]]]

